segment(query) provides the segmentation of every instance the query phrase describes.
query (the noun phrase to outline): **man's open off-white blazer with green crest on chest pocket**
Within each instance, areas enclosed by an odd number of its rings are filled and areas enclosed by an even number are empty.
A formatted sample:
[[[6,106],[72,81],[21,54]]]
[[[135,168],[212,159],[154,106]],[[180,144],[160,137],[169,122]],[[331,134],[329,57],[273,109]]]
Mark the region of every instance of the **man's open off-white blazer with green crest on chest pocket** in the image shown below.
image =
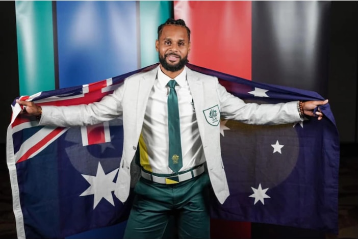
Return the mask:
[[[147,100],[158,67],[125,79],[112,94],[99,102],[76,106],[42,106],[40,125],[81,126],[123,118],[124,142],[115,196],[125,202],[130,193],[130,166],[137,150]],[[186,67],[195,114],[212,188],[222,204],[229,196],[220,149],[220,117],[248,124],[282,124],[302,121],[297,102],[245,103],[228,93],[217,77]],[[240,163],[239,163],[240,164]]]

